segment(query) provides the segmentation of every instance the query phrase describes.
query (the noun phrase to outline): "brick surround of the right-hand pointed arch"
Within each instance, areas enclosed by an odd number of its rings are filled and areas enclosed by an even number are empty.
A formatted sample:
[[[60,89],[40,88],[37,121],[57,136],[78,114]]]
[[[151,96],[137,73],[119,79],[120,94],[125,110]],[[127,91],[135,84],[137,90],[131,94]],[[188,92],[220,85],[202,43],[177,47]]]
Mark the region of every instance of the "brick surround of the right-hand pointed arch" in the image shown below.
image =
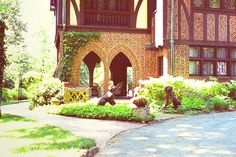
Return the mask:
[[[133,86],[136,86],[138,84],[138,80],[141,76],[141,65],[138,57],[134,53],[132,49],[127,47],[124,44],[119,44],[111,49],[111,51],[108,53],[108,65],[110,67],[112,60],[117,56],[119,53],[123,53],[130,61],[132,68],[133,68]]]

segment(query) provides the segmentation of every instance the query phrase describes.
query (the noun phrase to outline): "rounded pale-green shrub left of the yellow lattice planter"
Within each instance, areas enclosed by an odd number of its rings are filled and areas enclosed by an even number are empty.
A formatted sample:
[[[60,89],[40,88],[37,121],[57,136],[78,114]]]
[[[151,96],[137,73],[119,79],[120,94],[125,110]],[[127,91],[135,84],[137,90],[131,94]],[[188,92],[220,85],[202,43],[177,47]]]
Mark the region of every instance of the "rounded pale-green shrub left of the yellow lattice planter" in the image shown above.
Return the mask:
[[[63,90],[60,80],[51,78],[44,80],[33,92],[31,103],[33,106],[42,106],[50,104],[52,97],[55,97]]]

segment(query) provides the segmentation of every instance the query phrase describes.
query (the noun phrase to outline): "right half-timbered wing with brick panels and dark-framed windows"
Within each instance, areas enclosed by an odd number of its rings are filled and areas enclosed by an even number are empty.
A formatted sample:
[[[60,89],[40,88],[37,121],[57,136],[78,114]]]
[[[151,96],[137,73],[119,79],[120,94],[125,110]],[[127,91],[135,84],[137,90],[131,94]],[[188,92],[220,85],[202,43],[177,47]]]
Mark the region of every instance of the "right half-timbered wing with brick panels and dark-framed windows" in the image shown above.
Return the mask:
[[[169,54],[171,1],[163,3],[164,49]],[[235,78],[236,1],[175,0],[174,3],[174,75]]]

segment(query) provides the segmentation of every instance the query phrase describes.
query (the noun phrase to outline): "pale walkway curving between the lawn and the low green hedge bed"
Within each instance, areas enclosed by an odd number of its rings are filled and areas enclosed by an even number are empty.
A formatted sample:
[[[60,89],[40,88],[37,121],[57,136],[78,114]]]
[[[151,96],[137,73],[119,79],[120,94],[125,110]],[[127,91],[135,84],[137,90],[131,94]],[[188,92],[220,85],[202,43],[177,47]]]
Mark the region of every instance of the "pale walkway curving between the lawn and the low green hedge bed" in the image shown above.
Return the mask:
[[[50,115],[42,112],[30,111],[29,103],[1,106],[2,113],[10,113],[33,120],[39,120],[42,123],[58,126],[73,132],[78,136],[93,138],[98,147],[105,143],[118,133],[138,127],[145,124],[120,122],[111,120],[81,119],[74,117],[65,117],[59,115]]]

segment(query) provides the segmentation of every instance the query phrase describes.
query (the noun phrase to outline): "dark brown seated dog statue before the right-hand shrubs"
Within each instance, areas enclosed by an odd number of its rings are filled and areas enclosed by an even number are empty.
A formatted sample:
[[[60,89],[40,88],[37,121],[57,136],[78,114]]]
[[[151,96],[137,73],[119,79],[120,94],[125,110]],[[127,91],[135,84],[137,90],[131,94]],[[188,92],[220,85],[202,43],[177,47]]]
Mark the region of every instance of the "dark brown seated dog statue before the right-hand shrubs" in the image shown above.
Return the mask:
[[[164,108],[167,108],[169,103],[172,101],[173,102],[173,107],[176,110],[179,105],[181,105],[181,102],[175,97],[175,94],[173,92],[173,88],[171,86],[166,86],[164,88],[165,93],[166,93],[166,101],[165,101],[165,106]]]

